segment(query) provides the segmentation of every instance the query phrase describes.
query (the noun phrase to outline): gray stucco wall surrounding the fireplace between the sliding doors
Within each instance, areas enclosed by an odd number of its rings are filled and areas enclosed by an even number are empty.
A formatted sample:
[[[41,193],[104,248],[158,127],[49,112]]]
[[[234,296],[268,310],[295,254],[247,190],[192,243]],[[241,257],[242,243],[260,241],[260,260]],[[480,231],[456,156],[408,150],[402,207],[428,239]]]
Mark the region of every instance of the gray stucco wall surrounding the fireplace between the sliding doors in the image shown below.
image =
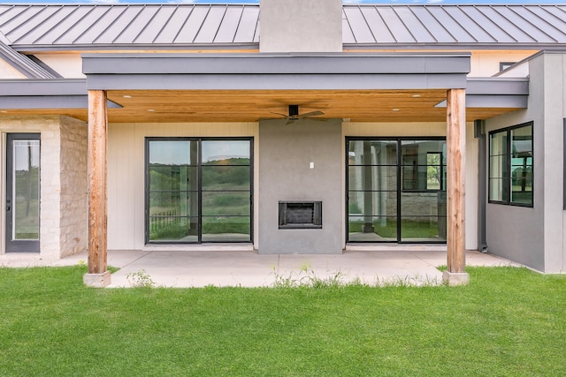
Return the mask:
[[[340,119],[262,121],[259,138],[258,253],[341,253]],[[279,200],[322,200],[322,229],[279,230]]]

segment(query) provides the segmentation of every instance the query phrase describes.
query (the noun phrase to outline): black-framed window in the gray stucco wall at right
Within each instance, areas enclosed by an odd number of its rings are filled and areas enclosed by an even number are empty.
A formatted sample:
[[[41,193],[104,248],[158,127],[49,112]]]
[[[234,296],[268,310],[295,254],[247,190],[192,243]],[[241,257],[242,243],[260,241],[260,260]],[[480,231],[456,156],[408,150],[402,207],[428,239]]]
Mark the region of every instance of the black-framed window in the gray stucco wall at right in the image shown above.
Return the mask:
[[[489,202],[532,207],[532,122],[489,134]]]

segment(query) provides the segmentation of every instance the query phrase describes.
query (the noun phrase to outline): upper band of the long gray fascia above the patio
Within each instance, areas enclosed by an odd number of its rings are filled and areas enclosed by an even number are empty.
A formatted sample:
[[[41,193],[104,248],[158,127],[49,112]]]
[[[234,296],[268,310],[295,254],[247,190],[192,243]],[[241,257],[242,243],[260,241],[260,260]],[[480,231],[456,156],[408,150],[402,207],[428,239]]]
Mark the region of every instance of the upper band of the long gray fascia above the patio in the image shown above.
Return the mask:
[[[89,74],[454,74],[470,53],[396,54],[84,54]]]

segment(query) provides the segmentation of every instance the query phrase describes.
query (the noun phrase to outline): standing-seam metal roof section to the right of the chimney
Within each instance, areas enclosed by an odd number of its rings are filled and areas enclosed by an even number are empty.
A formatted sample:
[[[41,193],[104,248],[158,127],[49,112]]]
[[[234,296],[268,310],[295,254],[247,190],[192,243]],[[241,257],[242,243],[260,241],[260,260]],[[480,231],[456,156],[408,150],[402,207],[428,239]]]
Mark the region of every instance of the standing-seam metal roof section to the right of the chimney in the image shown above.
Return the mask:
[[[566,5],[346,5],[345,44],[566,43]]]

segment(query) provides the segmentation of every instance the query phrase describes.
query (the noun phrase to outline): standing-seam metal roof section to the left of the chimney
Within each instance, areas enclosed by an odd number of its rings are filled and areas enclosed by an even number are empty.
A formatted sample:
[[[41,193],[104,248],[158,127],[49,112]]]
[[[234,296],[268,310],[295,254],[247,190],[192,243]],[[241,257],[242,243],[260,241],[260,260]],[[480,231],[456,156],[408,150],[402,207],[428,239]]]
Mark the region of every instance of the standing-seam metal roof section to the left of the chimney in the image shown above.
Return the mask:
[[[257,5],[0,5],[15,46],[257,43]]]

